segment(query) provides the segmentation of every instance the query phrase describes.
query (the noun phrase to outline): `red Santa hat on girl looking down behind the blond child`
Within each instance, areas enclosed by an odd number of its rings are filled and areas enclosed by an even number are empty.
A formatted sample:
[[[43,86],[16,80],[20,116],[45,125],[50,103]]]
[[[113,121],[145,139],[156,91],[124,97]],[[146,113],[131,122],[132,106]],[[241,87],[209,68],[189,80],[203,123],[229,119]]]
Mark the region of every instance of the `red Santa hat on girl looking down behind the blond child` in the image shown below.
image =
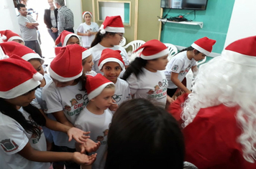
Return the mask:
[[[68,82],[83,74],[83,47],[70,44],[66,47],[55,47],[59,51],[49,67],[50,76],[59,82]]]

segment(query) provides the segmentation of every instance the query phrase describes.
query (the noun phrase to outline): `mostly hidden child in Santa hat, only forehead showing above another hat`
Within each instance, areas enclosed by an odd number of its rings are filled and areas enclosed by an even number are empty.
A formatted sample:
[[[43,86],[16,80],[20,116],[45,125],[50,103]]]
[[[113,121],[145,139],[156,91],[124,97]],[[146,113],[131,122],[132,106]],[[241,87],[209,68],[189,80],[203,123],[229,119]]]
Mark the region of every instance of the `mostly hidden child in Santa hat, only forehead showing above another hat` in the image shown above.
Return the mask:
[[[59,37],[55,41],[55,45],[62,44],[63,47],[67,46],[68,44],[80,44],[80,39],[77,34],[74,34],[72,32],[63,31],[59,35]]]

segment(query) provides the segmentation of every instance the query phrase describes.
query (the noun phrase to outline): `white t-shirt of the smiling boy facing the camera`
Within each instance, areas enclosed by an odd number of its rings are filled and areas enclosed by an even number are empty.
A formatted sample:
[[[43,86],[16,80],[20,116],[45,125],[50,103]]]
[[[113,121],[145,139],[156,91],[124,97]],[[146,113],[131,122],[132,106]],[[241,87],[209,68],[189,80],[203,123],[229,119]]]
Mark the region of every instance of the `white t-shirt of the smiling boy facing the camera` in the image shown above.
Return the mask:
[[[122,102],[125,100],[131,100],[131,91],[129,90],[129,84],[120,78],[117,78],[115,91],[114,91],[114,96],[113,99],[116,101],[116,104],[120,106]],[[111,111],[114,113],[114,111]]]

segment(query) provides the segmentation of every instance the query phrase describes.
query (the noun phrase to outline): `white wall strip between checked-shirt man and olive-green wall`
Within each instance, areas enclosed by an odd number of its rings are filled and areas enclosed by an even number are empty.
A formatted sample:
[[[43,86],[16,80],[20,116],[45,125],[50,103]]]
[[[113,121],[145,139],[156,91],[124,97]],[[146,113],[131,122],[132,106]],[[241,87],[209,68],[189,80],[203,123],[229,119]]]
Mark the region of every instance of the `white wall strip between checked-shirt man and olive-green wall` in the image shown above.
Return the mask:
[[[81,0],[66,0],[66,6],[68,6],[74,14],[74,31],[77,33],[76,29],[83,22],[83,11]]]

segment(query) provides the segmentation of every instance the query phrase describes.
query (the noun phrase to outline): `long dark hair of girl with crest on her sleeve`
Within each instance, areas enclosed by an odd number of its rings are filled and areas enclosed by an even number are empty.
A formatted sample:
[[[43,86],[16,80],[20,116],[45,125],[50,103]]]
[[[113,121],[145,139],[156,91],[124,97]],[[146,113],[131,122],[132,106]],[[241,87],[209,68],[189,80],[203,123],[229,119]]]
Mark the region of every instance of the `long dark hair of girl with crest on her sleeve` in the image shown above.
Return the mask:
[[[33,89],[36,90],[37,88]],[[32,92],[33,90],[30,90],[29,92]],[[19,112],[19,110],[16,109],[15,105],[12,105],[9,102],[6,102],[3,98],[0,98],[0,112],[4,115],[7,115],[11,117],[12,119],[19,122],[20,125],[24,128],[24,130],[28,133],[34,133],[37,135],[38,138],[40,138],[42,132],[38,125],[44,126],[45,125],[45,117],[42,115],[40,110],[37,109],[37,107],[29,104],[23,109],[29,113],[32,117],[32,121],[26,120],[25,117],[22,115],[22,112]]]

